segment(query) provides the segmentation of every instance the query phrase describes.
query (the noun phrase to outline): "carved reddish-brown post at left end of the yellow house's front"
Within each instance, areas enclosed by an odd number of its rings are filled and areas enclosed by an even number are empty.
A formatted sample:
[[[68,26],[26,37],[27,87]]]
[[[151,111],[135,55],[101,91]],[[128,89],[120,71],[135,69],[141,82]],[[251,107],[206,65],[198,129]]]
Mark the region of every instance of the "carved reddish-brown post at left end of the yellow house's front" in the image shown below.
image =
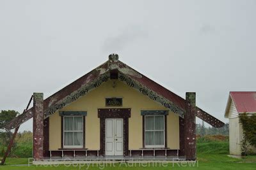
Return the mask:
[[[42,160],[44,158],[44,94],[34,93],[33,99],[33,158]]]

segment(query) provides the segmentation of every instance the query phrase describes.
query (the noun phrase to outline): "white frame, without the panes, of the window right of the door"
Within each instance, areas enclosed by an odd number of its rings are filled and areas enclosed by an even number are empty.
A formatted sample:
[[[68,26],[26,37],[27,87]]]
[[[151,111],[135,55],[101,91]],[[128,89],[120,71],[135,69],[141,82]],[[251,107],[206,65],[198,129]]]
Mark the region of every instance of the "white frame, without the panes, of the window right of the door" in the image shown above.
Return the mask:
[[[163,130],[155,130],[155,118],[154,118],[154,130],[146,130],[146,117],[163,117],[164,118],[164,129]],[[145,115],[144,116],[144,145],[145,148],[164,148],[165,147],[165,116],[164,115]],[[146,145],[146,132],[156,132],[163,131],[164,132],[164,144],[163,145]],[[155,137],[155,136],[154,136]]]

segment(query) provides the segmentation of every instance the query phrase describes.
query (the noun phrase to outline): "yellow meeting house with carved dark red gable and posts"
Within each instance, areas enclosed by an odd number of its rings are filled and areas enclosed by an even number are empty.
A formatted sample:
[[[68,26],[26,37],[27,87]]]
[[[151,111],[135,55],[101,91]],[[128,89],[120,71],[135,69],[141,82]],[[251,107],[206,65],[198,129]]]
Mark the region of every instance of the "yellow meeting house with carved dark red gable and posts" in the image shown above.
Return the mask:
[[[35,160],[195,160],[196,117],[224,125],[195,97],[177,96],[112,54],[47,99],[34,93],[34,106],[7,127],[33,118]]]

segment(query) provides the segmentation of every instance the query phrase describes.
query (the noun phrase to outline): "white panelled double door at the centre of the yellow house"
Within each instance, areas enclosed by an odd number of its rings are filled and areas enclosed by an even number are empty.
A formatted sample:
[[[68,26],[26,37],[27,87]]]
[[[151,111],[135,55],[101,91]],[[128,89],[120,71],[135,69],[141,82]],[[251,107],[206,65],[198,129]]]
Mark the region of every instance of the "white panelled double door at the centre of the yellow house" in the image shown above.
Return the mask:
[[[123,155],[123,119],[106,118],[106,155]]]

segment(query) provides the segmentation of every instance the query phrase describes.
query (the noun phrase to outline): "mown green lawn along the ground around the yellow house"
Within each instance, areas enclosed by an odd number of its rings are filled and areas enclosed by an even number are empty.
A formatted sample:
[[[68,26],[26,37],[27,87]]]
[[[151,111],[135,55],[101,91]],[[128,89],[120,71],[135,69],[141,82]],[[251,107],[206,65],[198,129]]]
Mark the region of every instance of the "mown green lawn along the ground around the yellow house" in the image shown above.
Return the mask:
[[[79,169],[79,167],[67,167],[64,165],[54,167],[54,166],[12,166],[11,164],[28,164],[28,159],[15,159],[10,158],[6,160],[6,166],[0,166],[0,169]],[[99,166],[99,165],[98,165]],[[234,159],[230,158],[225,154],[211,154],[211,153],[198,153],[198,167],[188,167],[185,164],[182,167],[181,164],[168,164],[166,167],[165,164],[162,167],[142,167],[142,164],[136,164],[136,167],[128,167],[128,164],[115,164],[115,167],[118,169],[256,169],[256,156],[246,157],[246,159]],[[100,165],[97,167],[88,168],[88,169],[103,169],[103,166]],[[87,166],[81,167],[81,169],[86,169]],[[104,167],[104,169],[116,169],[113,167]]]

